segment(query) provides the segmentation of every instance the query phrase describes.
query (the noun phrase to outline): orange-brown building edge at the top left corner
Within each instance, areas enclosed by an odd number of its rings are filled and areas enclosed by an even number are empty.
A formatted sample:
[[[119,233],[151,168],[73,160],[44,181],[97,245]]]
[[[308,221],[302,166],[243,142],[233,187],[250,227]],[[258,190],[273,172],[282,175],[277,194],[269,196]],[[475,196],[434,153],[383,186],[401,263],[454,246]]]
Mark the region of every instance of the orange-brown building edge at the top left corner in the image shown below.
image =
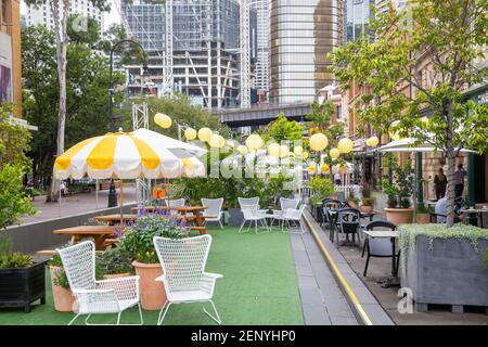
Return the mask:
[[[12,102],[21,115],[21,7],[18,0],[0,0],[0,102]]]

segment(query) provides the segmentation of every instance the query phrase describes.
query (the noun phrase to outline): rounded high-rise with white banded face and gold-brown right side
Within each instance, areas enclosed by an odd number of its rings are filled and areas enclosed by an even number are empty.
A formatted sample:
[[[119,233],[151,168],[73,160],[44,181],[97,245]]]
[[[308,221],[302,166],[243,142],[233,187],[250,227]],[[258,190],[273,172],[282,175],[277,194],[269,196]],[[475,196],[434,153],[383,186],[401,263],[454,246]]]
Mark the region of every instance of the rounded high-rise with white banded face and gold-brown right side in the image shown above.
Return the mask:
[[[270,21],[270,102],[311,102],[334,80],[328,54],[343,42],[343,1],[271,0]]]

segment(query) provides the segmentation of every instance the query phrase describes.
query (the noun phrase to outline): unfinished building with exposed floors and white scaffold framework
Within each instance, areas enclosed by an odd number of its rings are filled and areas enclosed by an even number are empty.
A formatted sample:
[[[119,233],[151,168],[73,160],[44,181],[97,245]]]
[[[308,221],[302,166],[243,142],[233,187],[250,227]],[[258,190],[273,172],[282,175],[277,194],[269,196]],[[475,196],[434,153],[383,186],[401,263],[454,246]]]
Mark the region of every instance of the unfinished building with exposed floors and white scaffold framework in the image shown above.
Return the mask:
[[[123,1],[123,23],[149,54],[149,76],[140,65],[126,66],[129,97],[179,91],[206,107],[239,106],[240,11],[239,0]],[[253,66],[255,41],[248,44]]]

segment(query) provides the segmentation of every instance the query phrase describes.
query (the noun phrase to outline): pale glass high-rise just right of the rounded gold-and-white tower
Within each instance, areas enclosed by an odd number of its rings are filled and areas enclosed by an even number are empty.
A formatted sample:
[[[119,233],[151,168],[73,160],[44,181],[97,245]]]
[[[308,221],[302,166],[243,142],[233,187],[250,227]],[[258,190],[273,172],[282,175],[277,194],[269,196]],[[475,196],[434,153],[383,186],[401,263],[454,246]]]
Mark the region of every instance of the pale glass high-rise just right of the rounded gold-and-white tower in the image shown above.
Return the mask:
[[[374,0],[346,0],[344,4],[344,41],[354,41],[362,33],[369,35],[371,7]]]

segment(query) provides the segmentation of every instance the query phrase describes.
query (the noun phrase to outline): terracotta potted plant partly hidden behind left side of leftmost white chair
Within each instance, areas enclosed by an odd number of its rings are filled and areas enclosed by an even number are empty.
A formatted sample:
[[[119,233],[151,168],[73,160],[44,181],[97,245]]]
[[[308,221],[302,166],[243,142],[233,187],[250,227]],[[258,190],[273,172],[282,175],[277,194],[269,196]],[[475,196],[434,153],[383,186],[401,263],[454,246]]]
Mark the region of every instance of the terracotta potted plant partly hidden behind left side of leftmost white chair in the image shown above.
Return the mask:
[[[75,296],[69,290],[69,282],[63,270],[61,257],[56,253],[48,262],[49,274],[51,277],[52,298],[54,309],[60,312],[70,312],[74,310]]]

